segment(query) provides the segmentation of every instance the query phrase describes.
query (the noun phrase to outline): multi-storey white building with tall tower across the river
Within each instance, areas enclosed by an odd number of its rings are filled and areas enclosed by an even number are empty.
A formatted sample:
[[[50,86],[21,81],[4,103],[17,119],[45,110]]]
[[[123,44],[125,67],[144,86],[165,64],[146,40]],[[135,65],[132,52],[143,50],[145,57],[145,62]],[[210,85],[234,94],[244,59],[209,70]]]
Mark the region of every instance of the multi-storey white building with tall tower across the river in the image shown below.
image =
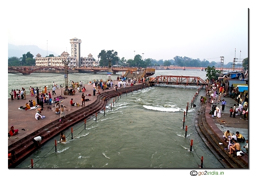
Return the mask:
[[[52,66],[59,67],[64,66],[62,60],[70,60],[68,66],[70,68],[81,68],[81,67],[92,67],[98,66],[99,60],[94,60],[92,54],[90,53],[88,57],[81,57],[80,55],[80,44],[82,40],[77,38],[70,39],[71,44],[71,56],[68,52],[62,52],[60,56],[57,57],[41,57],[41,54],[36,55],[36,66]]]

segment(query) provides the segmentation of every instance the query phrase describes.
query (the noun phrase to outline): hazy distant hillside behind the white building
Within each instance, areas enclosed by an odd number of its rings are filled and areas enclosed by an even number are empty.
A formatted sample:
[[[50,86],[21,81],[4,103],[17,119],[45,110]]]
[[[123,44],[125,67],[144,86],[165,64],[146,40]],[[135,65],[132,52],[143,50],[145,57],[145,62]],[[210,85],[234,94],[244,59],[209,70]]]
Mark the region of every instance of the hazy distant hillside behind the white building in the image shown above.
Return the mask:
[[[34,58],[36,57],[37,53],[40,53],[42,57],[45,57],[47,54],[46,50],[42,50],[38,48],[36,45],[13,45],[8,44],[8,58],[16,56],[18,58],[22,57],[22,54],[27,54],[27,52],[30,52],[34,55]],[[56,54],[55,52],[48,51],[48,55],[53,54],[54,56],[58,56],[59,54]]]

